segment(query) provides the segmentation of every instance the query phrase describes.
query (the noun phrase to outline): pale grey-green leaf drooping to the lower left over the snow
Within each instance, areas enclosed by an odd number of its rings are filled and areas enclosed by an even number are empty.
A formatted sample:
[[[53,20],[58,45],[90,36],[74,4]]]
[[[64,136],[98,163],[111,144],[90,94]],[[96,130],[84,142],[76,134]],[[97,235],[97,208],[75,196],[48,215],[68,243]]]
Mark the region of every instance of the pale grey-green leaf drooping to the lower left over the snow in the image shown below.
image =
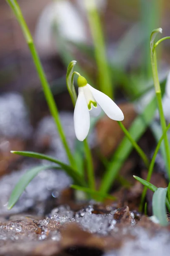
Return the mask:
[[[37,166],[32,169],[30,169],[28,172],[26,172],[18,181],[18,183],[15,185],[14,189],[12,190],[11,196],[8,201],[8,209],[11,209],[14,204],[18,201],[24,190],[26,189],[26,186],[30,183],[32,179],[34,179],[35,176],[42,170],[46,169],[60,169],[57,166]]]

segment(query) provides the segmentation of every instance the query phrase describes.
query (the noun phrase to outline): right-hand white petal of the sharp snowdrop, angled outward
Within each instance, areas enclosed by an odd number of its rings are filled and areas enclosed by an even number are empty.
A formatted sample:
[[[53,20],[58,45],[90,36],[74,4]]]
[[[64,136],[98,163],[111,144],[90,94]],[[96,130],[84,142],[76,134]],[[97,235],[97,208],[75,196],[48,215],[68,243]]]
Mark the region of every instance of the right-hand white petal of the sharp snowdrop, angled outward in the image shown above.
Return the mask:
[[[106,113],[106,115],[116,121],[122,121],[124,115],[122,110],[109,98],[105,93],[100,92],[99,90],[94,89],[90,84],[88,84],[91,92],[93,93],[94,99]]]

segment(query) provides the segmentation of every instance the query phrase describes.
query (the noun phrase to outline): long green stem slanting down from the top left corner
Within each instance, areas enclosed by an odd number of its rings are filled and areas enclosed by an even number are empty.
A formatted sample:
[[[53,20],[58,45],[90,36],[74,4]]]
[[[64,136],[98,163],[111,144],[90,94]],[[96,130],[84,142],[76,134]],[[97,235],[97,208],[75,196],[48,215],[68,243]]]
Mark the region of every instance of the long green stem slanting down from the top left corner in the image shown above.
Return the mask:
[[[34,61],[34,64],[35,64],[35,67],[37,69],[37,74],[38,74],[38,76],[40,78],[40,81],[41,81],[41,84],[42,84],[42,88],[43,88],[43,91],[44,91],[44,94],[45,94],[46,101],[48,103],[48,107],[49,107],[49,109],[51,111],[51,115],[53,116],[54,121],[57,125],[59,136],[60,136],[60,138],[62,140],[62,143],[64,145],[64,148],[65,148],[65,151],[67,153],[68,159],[69,159],[71,165],[74,166],[74,157],[71,154],[71,150],[68,146],[68,143],[67,143],[67,140],[66,140],[63,128],[62,128],[62,124],[61,124],[61,121],[59,119],[59,113],[58,113],[57,106],[56,106],[55,101],[54,101],[54,97],[51,93],[50,86],[48,84],[48,81],[46,79],[44,70],[42,68],[42,64],[40,62],[40,58],[39,58],[37,50],[34,46],[34,41],[32,39],[32,36],[31,36],[31,33],[28,29],[26,21],[24,20],[24,17],[22,15],[21,10],[20,10],[20,6],[18,5],[17,0],[6,0],[6,2],[8,3],[8,5],[13,10],[13,12],[14,12],[22,30],[23,30],[24,37],[26,39],[26,42],[28,44],[28,47],[30,49],[30,52],[31,52],[31,55],[32,55],[32,58],[33,58],[33,61]]]

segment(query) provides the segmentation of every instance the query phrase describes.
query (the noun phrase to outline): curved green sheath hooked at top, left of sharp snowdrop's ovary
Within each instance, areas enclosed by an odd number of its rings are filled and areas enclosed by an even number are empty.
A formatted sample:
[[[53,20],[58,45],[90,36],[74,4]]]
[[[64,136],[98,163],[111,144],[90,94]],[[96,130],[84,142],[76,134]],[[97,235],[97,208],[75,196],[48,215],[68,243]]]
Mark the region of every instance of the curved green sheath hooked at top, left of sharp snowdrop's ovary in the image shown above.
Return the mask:
[[[76,65],[76,63],[77,63],[77,61],[71,61],[68,64],[67,74],[66,74],[67,89],[71,96],[71,100],[72,100],[74,106],[76,105],[77,94],[76,94],[76,91],[74,88],[74,81],[72,79],[72,75],[73,75],[73,70],[74,70],[74,66]]]

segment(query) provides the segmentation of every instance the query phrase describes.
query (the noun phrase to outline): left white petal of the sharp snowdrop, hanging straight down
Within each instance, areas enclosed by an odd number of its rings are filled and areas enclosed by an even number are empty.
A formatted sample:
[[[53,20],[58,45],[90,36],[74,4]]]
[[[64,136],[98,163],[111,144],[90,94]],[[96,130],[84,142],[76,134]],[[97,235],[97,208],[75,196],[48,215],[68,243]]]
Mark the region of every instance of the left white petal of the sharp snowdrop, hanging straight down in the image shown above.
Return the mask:
[[[88,135],[90,129],[90,114],[88,105],[82,92],[79,88],[79,95],[74,109],[74,130],[78,140],[83,141]]]

